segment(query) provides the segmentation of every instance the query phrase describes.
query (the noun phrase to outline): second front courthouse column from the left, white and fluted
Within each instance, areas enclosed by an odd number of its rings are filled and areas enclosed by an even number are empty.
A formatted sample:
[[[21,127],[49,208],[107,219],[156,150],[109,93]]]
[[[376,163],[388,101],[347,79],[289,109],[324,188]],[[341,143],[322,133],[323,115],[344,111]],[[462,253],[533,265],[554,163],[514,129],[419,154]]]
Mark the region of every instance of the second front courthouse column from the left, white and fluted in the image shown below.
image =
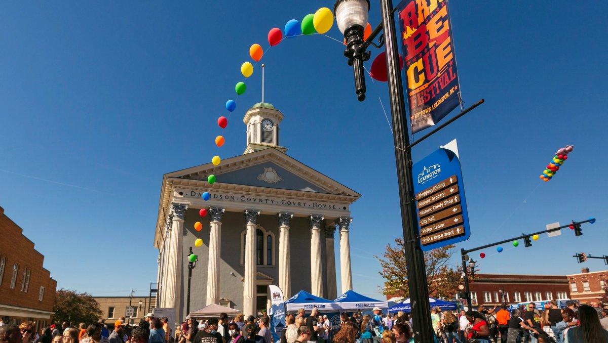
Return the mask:
[[[221,229],[224,208],[209,209],[209,267],[207,268],[207,305],[219,304],[219,258],[221,254]]]

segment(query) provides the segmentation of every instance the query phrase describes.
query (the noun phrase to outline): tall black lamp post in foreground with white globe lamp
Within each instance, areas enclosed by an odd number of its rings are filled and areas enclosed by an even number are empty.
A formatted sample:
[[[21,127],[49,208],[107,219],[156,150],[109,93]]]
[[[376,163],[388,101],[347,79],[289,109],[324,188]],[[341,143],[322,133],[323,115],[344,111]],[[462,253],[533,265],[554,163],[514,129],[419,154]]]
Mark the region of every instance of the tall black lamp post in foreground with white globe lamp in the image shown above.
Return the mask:
[[[392,0],[381,0],[382,24],[370,37],[363,40],[370,9],[369,0],[337,0],[334,15],[337,25],[347,39],[344,54],[353,66],[355,90],[359,101],[365,100],[365,74],[363,62],[369,57],[365,52],[380,30],[384,29],[387,76],[389,83],[390,109],[392,114],[395,144],[395,160],[399,185],[399,205],[406,250],[407,284],[412,304],[412,321],[416,342],[433,342],[434,333],[430,322],[429,290],[426,284],[424,254],[420,247],[416,217],[416,202],[413,194],[411,145],[407,134],[406,103],[399,67],[398,37],[395,33]],[[380,39],[382,45],[382,38]],[[375,45],[375,44],[373,44]],[[378,47],[378,46],[376,46]],[[415,225],[416,223],[416,225]]]

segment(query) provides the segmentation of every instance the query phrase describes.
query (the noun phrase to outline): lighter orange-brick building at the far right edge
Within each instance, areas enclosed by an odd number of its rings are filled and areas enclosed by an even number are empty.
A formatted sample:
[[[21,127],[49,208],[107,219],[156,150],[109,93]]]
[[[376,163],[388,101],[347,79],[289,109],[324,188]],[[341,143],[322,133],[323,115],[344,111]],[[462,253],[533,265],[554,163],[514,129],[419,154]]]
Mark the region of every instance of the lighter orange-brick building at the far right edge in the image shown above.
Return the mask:
[[[608,279],[608,270],[590,273],[589,268],[582,268],[581,273],[570,274],[566,277],[572,299],[580,301],[581,304],[599,302],[599,299],[606,294],[604,283]]]

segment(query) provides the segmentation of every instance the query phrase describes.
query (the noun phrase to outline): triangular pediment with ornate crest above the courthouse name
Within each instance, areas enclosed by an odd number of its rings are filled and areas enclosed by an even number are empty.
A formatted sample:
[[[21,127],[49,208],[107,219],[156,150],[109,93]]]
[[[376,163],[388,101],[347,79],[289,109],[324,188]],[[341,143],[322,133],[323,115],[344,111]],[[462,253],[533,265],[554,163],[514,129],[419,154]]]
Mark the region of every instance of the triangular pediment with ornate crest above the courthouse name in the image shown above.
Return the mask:
[[[264,149],[221,161],[167,174],[171,178],[206,181],[216,176],[216,183],[324,194],[361,195],[326,175],[309,168],[277,149]]]

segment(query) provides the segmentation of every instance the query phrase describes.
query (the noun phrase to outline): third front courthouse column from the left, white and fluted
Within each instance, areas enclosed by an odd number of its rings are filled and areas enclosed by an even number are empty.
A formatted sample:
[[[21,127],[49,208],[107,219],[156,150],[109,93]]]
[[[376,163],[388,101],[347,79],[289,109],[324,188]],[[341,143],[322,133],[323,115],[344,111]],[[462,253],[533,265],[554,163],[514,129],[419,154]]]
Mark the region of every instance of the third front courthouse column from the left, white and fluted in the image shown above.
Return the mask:
[[[255,229],[260,211],[245,210],[247,233],[245,234],[245,284],[243,288],[243,314],[257,316],[255,313],[255,286],[257,279],[257,260],[255,259]]]

